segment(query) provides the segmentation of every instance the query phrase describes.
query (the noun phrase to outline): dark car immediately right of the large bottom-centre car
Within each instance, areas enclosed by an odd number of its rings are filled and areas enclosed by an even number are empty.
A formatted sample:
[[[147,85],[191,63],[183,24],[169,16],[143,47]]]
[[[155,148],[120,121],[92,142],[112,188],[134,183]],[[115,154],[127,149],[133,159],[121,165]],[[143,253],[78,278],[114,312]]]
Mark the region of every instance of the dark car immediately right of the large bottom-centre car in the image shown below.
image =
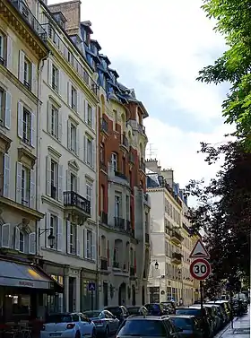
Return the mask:
[[[203,329],[195,316],[169,316],[182,338],[203,338]]]

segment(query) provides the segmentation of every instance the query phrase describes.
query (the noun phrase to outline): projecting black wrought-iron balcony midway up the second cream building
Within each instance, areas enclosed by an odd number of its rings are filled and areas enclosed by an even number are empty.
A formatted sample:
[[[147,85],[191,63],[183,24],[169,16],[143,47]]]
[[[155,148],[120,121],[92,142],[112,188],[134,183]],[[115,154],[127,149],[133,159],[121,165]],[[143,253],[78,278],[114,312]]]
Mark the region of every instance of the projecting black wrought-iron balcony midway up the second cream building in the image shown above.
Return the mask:
[[[74,191],[64,192],[64,205],[66,218],[82,225],[91,218],[91,202]]]

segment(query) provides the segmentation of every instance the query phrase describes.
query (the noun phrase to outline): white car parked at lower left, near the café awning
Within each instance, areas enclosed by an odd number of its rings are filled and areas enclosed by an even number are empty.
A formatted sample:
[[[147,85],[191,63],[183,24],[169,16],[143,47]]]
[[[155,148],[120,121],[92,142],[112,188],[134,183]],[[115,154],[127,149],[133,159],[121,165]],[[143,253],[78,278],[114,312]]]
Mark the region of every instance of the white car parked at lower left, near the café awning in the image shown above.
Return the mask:
[[[81,313],[57,313],[48,315],[40,338],[96,338],[96,327]]]

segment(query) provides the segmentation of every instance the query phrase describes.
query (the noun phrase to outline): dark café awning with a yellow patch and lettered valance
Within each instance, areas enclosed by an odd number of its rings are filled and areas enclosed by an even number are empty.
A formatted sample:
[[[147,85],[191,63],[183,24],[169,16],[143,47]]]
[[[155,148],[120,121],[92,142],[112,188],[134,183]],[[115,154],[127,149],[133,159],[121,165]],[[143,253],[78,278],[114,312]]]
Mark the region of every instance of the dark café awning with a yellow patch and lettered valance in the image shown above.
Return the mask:
[[[48,274],[33,265],[0,261],[1,286],[54,290],[55,283]]]

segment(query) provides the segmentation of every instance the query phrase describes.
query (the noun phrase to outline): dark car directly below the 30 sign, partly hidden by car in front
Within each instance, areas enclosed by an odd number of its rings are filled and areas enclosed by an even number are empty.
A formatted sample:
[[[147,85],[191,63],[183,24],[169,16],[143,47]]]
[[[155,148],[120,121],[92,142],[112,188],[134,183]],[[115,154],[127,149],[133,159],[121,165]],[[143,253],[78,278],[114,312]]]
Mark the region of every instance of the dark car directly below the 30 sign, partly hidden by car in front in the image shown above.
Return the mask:
[[[203,329],[203,334],[205,338],[209,338],[212,336],[212,319],[208,313],[207,308],[197,308],[189,307],[189,308],[177,308],[176,315],[188,315],[195,316]]]

